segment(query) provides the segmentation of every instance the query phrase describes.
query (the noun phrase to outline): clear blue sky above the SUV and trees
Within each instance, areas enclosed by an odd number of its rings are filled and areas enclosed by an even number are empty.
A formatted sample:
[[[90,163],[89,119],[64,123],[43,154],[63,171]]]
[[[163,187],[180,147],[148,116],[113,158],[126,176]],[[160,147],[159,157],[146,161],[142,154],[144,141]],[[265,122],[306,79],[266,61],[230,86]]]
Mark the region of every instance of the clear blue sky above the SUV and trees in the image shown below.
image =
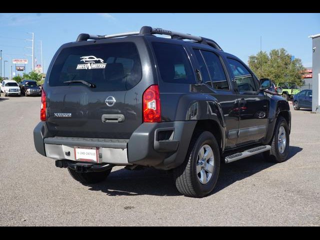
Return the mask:
[[[320,33],[319,13],[0,13],[0,49],[6,76],[12,58],[31,57],[34,32],[35,57],[40,62],[42,40],[45,70],[57,48],[74,41],[79,33],[112,34],[137,31],[142,25],[205,36],[218,42],[222,49],[244,62],[260,50],[284,47],[300,58],[304,66],[312,65],[311,39]],[[12,67],[14,68],[14,66]],[[30,71],[31,64],[26,67]]]

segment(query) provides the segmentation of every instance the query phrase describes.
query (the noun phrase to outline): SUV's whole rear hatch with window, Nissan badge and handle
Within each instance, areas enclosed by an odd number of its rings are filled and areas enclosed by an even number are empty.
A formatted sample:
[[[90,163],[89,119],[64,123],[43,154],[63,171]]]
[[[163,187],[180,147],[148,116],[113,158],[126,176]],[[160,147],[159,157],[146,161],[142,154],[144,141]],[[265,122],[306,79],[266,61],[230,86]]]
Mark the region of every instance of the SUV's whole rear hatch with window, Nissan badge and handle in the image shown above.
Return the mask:
[[[134,99],[134,86],[141,77],[133,42],[63,48],[45,89],[49,132],[54,136],[128,139],[142,121],[141,100]]]

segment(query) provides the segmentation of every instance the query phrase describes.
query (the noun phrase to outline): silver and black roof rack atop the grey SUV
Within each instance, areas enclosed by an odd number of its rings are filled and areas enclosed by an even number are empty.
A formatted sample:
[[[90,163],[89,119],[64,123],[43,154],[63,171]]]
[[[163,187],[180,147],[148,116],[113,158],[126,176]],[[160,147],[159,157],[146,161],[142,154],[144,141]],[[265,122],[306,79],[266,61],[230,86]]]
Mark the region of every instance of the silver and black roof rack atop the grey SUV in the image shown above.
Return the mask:
[[[92,35],[87,33],[81,33],[76,38],[76,41],[86,41],[88,39],[95,40],[95,39],[105,39],[105,38],[131,36],[131,35],[145,35],[145,34],[162,34],[162,35],[169,35],[173,39],[189,39],[189,40],[192,40],[192,42],[206,44],[222,51],[221,47],[212,39],[202,37],[202,36],[194,36],[191,34],[181,33],[177,31],[165,30],[162,28],[155,28],[151,26],[142,26],[140,31],[124,32],[124,33],[111,34],[111,35]]]

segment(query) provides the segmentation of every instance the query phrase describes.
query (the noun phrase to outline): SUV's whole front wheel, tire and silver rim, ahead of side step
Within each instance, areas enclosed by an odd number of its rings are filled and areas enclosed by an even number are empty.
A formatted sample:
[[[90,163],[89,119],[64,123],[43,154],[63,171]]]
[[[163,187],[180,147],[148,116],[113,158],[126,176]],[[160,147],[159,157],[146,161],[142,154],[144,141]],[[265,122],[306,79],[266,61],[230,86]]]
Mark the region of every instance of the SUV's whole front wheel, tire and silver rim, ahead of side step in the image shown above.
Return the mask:
[[[284,117],[279,116],[272,137],[270,151],[263,152],[267,160],[283,162],[289,153],[289,127]]]

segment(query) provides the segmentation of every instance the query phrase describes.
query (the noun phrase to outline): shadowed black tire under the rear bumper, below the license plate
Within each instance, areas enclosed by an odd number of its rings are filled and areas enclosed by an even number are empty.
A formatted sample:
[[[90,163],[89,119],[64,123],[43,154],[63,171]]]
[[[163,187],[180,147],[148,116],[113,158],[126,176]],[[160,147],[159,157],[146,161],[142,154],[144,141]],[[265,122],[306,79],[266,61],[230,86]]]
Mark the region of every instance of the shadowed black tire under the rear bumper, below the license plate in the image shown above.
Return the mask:
[[[97,172],[77,172],[68,167],[70,175],[81,183],[97,183],[103,181],[111,172],[111,169]]]

